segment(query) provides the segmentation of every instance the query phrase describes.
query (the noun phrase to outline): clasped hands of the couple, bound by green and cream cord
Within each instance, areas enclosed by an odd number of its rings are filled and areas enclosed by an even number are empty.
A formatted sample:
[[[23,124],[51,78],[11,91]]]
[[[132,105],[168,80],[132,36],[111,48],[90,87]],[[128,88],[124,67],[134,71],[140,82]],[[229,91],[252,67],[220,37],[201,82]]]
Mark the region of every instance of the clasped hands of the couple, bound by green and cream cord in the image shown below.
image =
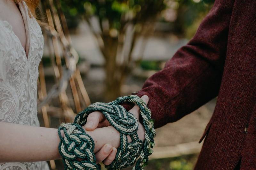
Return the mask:
[[[148,104],[148,96],[144,95],[141,99]],[[140,108],[137,105],[129,110],[129,112],[135,115],[137,120],[139,120]],[[88,115],[87,123],[83,128],[94,140],[96,163],[103,162],[105,165],[110,165],[116,157],[116,148],[120,146],[120,133],[110,125],[101,112],[93,112]],[[139,138],[144,141],[145,130],[140,122],[137,133]],[[128,137],[128,142],[131,141],[131,138]]]

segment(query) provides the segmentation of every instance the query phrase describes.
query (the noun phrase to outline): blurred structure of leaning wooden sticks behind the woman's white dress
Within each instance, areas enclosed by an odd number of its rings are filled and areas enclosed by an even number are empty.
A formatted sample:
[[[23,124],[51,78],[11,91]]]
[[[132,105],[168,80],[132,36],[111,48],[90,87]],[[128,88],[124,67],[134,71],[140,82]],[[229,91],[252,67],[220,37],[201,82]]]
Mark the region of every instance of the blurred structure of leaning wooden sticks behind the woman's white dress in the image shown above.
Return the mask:
[[[44,126],[50,127],[50,117],[52,115],[59,117],[60,122],[72,122],[75,113],[88,106],[90,99],[85,90],[80,71],[76,68],[78,55],[71,45],[66,18],[60,8],[60,1],[42,1],[40,11],[42,16],[47,18],[47,24],[42,26],[42,30],[45,46],[48,46],[54,70],[55,85],[47,93],[44,66],[41,62],[38,78],[38,112],[43,115]],[[65,61],[64,66],[61,64],[61,59]],[[70,99],[66,93],[68,84],[73,95],[74,111],[69,104]],[[59,100],[60,106],[51,106],[52,99]],[[54,160],[50,161],[50,165],[52,169],[56,168]]]

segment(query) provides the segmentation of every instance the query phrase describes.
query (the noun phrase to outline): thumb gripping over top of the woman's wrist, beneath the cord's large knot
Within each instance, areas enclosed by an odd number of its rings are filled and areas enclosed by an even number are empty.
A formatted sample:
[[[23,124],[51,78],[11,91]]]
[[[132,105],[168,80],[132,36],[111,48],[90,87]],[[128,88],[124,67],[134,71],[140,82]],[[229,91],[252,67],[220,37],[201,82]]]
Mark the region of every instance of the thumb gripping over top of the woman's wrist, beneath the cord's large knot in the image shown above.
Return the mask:
[[[88,115],[85,129],[88,131],[96,129],[99,122],[101,122],[104,118],[105,117],[101,112],[92,112],[90,115]]]

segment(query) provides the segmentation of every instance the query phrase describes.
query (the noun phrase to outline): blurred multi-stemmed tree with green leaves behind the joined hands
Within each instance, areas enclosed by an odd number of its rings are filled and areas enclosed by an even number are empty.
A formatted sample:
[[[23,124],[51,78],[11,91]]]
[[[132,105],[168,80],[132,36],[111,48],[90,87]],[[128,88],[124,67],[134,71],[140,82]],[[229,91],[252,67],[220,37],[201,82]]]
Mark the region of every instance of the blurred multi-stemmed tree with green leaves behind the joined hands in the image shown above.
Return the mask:
[[[116,98],[129,73],[135,41],[154,30],[163,0],[61,0],[61,5],[69,16],[84,17],[91,26],[105,58],[106,97]]]

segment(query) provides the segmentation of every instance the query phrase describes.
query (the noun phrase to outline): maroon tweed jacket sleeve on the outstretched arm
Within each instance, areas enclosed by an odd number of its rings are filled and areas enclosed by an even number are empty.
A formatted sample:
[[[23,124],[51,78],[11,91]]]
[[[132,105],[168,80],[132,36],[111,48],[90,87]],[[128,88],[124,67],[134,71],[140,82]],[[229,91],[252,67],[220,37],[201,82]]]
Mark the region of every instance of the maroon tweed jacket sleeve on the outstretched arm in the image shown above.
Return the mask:
[[[233,4],[216,0],[195,36],[135,93],[148,95],[155,128],[179,120],[218,95]]]

